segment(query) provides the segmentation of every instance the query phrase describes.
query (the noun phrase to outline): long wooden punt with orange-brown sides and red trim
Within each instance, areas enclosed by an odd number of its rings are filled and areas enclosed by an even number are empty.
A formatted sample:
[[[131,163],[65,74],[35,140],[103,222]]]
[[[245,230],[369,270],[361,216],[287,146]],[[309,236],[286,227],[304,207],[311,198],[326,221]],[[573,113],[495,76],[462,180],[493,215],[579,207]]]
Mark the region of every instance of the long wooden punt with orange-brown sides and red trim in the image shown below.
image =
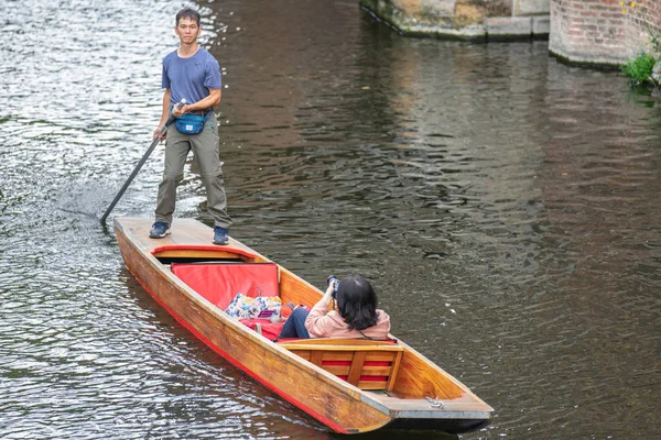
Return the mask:
[[[150,219],[115,220],[129,271],[210,349],[334,431],[387,427],[462,433],[491,420],[490,406],[394,338],[273,342],[229,317],[217,306],[221,297],[227,300],[254,284],[261,296],[274,289],[283,304],[313,306],[323,293],[236,240],[213,245],[213,230],[198,221],[173,223],[172,234],[153,240]]]

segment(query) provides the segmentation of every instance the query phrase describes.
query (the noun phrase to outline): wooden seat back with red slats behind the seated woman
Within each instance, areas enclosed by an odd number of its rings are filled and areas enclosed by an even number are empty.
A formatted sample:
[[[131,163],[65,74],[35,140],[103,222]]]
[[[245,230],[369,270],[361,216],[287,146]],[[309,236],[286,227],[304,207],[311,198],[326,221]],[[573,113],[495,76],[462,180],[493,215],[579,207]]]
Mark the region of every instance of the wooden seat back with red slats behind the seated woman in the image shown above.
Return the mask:
[[[360,389],[392,391],[404,348],[392,341],[304,339],[279,342]]]

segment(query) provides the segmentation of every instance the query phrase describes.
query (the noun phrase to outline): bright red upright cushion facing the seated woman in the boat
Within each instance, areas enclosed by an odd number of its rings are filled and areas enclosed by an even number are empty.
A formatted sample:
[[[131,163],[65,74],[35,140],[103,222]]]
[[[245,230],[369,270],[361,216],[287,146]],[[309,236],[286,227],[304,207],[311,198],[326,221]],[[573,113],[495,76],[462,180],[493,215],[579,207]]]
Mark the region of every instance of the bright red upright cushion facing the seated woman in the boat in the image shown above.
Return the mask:
[[[279,296],[275,263],[173,263],[172,273],[223,310],[241,293],[249,297]]]

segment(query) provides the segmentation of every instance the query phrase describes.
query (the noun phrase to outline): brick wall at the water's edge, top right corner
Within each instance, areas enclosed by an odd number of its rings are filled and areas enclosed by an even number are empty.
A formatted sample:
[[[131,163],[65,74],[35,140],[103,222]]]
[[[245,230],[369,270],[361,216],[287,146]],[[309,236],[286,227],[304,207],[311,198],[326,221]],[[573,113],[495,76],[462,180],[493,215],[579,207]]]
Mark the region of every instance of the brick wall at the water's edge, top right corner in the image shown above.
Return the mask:
[[[551,52],[574,62],[621,64],[661,35],[661,0],[551,0]],[[622,12],[624,11],[624,12]]]

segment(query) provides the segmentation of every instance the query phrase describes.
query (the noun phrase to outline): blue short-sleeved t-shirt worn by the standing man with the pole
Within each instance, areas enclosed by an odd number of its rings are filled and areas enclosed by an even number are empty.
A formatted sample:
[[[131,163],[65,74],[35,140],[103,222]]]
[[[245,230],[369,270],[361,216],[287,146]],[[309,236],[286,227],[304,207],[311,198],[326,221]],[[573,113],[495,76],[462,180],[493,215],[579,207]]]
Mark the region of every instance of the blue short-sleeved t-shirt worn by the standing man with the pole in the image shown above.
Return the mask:
[[[209,96],[208,89],[219,89],[220,66],[204,47],[188,58],[181,58],[176,51],[163,58],[164,89],[170,89],[170,101],[174,105],[183,99],[186,103],[195,103]]]

